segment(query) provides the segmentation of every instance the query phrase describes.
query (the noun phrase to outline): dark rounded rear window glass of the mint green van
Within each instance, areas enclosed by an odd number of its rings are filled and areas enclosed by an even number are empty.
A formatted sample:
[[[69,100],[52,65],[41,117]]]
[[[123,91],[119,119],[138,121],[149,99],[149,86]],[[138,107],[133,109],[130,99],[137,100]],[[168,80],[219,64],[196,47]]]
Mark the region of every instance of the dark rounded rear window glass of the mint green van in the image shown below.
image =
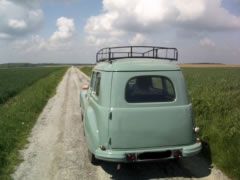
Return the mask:
[[[173,83],[164,76],[137,76],[126,85],[125,98],[129,103],[171,102],[176,98]]]

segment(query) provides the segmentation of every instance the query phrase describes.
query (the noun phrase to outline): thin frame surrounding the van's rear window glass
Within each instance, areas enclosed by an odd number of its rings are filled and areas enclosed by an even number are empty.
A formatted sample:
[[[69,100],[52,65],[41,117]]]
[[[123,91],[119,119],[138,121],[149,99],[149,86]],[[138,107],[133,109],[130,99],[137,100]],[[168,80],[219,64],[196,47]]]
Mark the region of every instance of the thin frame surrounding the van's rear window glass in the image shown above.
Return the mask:
[[[132,79],[136,79],[137,77],[160,77],[160,78],[165,78],[166,80],[168,80],[168,82],[171,84],[172,88],[173,88],[173,92],[174,92],[174,98],[171,101],[141,101],[141,102],[129,102],[127,100],[127,86],[129,81],[131,81]],[[133,76],[131,78],[129,78],[125,84],[125,91],[124,91],[124,100],[125,102],[127,102],[128,104],[156,104],[156,103],[173,103],[175,102],[177,99],[177,93],[176,93],[176,88],[175,85],[173,83],[173,81],[167,77],[167,76],[161,76],[161,75],[138,75],[138,76]]]

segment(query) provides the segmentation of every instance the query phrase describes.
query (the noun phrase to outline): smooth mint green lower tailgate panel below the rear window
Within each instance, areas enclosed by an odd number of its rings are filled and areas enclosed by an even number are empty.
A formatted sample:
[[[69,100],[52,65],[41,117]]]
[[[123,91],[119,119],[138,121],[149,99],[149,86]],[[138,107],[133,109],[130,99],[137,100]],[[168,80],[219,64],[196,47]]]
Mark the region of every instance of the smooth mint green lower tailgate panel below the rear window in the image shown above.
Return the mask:
[[[190,109],[191,105],[113,109],[109,128],[111,147],[131,149],[191,144]]]

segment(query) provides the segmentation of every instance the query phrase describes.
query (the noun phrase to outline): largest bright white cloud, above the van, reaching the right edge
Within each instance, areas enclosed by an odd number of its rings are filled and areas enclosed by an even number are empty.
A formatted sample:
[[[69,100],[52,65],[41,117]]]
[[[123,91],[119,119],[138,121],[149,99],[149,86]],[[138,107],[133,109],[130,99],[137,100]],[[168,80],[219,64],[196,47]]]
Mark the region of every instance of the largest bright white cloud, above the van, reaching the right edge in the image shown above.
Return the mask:
[[[161,30],[214,32],[240,30],[240,17],[221,0],[103,0],[103,11],[88,19],[85,32],[95,42],[129,39]],[[89,38],[88,37],[88,38]]]

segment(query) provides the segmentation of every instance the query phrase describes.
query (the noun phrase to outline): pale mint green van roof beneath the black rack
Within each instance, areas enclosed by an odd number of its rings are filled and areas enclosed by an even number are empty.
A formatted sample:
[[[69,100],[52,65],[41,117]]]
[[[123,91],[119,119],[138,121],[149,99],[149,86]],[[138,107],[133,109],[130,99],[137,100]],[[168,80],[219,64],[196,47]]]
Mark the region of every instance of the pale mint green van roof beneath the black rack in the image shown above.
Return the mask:
[[[176,62],[153,58],[125,58],[112,62],[97,63],[94,70],[98,71],[174,71],[180,70]]]

